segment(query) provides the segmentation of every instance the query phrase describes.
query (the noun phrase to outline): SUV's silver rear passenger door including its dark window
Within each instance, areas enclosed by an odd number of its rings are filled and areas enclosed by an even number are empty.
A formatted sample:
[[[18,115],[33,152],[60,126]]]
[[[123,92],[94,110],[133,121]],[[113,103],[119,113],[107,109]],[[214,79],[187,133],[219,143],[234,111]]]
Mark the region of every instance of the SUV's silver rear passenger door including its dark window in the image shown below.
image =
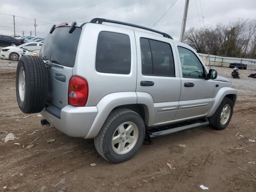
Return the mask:
[[[148,93],[154,101],[154,126],[174,120],[179,106],[180,78],[171,39],[135,32],[137,47],[136,92]]]

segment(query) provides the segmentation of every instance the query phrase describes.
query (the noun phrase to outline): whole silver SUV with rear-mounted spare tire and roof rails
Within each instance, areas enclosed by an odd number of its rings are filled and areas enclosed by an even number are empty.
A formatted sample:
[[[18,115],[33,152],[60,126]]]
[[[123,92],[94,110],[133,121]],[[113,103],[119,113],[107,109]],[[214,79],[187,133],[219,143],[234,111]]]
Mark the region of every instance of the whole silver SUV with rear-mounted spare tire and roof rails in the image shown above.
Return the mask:
[[[168,34],[95,18],[52,26],[38,57],[18,62],[16,94],[22,112],[41,112],[42,125],[69,136],[94,138],[99,154],[119,163],[145,139],[224,129],[237,91]]]

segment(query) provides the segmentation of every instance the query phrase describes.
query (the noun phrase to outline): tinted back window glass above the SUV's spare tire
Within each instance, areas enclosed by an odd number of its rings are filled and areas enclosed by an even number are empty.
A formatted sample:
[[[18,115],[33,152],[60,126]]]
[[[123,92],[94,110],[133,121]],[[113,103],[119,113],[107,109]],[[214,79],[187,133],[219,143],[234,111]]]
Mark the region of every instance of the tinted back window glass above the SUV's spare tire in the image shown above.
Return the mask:
[[[44,40],[39,56],[43,60],[63,66],[74,67],[81,28],[69,33],[69,27],[56,28]]]

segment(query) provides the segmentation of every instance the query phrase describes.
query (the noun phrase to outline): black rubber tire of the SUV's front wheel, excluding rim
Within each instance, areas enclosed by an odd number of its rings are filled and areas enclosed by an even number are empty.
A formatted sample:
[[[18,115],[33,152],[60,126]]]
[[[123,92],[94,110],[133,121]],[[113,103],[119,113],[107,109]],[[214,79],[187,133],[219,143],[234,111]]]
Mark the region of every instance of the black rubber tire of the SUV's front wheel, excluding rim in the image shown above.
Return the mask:
[[[221,115],[222,109],[227,104],[230,106],[230,116],[228,117],[228,121],[225,124],[221,124],[220,115]],[[230,98],[224,97],[224,99],[220,103],[220,106],[217,108],[216,112],[213,114],[213,116],[209,118],[210,126],[217,130],[223,130],[224,128],[226,128],[226,126],[228,126],[232,118],[233,107],[234,107],[234,102]]]

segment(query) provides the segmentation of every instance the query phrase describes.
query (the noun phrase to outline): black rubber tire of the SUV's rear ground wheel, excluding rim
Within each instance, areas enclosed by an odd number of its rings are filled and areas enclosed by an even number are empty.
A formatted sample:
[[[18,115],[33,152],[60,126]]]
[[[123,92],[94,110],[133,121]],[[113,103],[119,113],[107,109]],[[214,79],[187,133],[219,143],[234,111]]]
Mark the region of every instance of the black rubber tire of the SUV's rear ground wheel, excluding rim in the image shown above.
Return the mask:
[[[138,127],[138,140],[133,148],[125,154],[117,154],[112,148],[112,136],[116,128],[124,122],[133,122]],[[136,112],[127,108],[113,110],[104,122],[100,132],[94,138],[94,145],[98,153],[107,161],[112,163],[124,162],[139,150],[145,137],[145,124],[143,119]]]

